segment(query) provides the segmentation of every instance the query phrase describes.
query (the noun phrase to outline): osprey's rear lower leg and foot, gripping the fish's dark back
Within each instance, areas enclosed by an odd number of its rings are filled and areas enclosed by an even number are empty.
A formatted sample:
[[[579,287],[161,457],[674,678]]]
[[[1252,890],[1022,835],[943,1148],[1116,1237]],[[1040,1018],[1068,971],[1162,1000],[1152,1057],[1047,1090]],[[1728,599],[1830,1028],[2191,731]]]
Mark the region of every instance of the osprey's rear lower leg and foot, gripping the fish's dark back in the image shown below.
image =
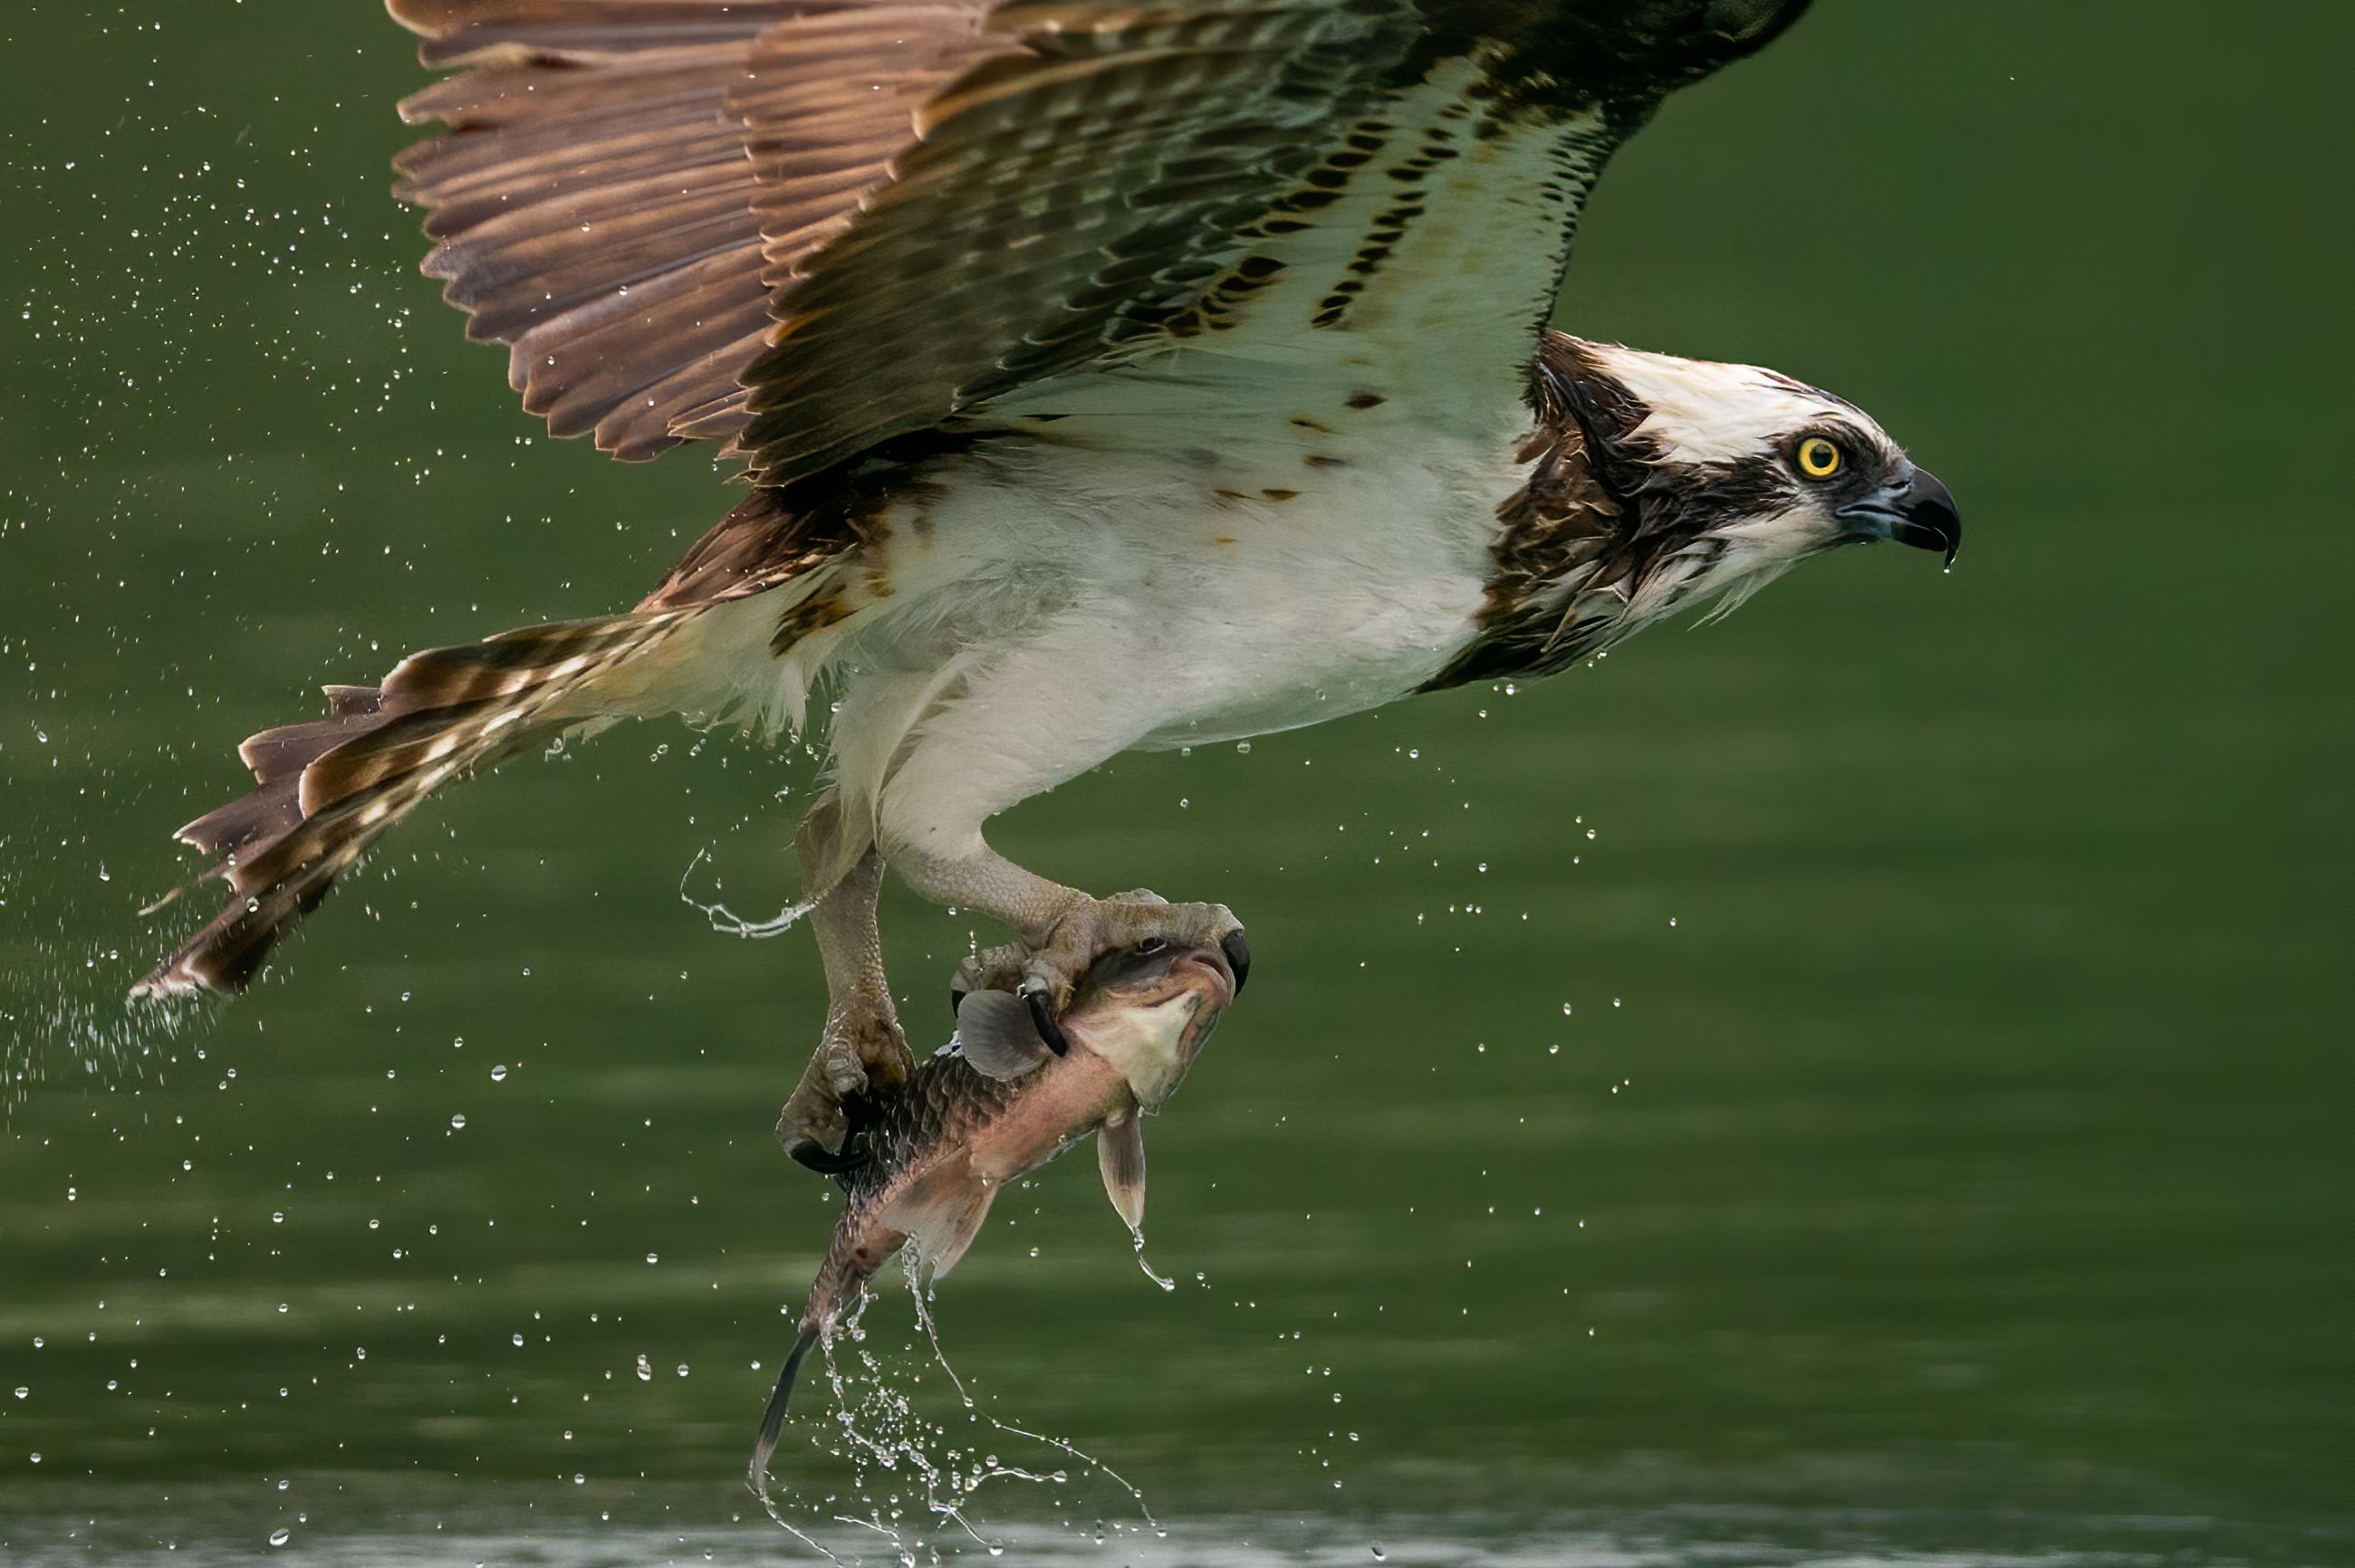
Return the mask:
[[[817,864],[812,829],[803,829],[803,866]],[[864,1158],[853,1144],[855,1128],[845,1102],[860,1102],[874,1090],[907,1083],[916,1057],[900,1031],[883,979],[883,935],[876,928],[876,897],[883,890],[883,862],[874,850],[817,899],[810,923],[817,930],[817,956],[827,965],[827,1029],[817,1041],[801,1085],[777,1116],[777,1142],[803,1165],[838,1172]]]

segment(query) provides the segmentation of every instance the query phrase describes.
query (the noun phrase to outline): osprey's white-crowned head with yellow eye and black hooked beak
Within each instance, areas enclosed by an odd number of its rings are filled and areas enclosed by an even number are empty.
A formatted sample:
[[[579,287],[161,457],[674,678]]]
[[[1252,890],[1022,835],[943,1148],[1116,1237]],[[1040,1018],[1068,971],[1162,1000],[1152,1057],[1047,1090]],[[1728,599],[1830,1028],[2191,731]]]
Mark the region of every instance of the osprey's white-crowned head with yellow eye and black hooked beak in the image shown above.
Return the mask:
[[[1844,398],[1757,365],[1554,337],[1545,391],[1620,506],[1632,622],[1733,600],[1809,556],[1896,539],[1962,546],[1955,497]]]

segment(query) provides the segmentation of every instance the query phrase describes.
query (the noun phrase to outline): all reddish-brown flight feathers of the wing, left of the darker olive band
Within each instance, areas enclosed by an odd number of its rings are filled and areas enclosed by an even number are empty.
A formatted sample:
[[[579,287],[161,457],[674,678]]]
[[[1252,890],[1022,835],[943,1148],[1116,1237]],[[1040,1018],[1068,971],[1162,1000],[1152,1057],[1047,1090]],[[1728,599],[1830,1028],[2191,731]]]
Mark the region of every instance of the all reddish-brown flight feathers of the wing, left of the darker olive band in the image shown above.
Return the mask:
[[[735,436],[770,297],[888,179],[916,106],[1008,40],[980,2],[391,0],[447,137],[396,162],[424,271],[509,344],[556,436],[624,459]]]

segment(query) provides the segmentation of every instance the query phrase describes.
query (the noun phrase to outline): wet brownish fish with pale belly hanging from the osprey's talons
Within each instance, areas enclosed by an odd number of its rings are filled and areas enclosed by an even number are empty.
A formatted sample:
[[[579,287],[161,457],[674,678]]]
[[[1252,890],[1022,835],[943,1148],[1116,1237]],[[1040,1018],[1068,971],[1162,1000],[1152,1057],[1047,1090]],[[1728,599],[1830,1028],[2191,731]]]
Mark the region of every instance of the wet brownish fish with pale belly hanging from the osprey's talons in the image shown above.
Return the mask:
[[[1060,1029],[1041,1029],[1022,994],[975,989],[956,1003],[956,1034],[907,1083],[845,1102],[843,1215],[761,1417],[754,1488],[765,1483],[801,1363],[900,1248],[914,1248],[921,1285],[944,1278],[1006,1184],[1090,1132],[1104,1194],[1142,1241],[1140,1121],[1178,1090],[1248,968],[1241,935],[1220,946],[1149,937],[1081,975]]]

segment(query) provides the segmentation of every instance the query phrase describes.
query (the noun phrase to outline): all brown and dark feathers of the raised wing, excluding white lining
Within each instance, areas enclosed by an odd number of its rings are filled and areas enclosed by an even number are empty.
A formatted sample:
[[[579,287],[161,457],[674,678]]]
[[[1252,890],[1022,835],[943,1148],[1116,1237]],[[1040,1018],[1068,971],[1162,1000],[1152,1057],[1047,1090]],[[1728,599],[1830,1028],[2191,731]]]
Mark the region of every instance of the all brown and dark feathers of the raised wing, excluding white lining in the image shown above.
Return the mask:
[[[466,68],[400,191],[525,407],[787,483],[1149,341],[1446,61],[1611,141],[1806,0],[389,5]]]

